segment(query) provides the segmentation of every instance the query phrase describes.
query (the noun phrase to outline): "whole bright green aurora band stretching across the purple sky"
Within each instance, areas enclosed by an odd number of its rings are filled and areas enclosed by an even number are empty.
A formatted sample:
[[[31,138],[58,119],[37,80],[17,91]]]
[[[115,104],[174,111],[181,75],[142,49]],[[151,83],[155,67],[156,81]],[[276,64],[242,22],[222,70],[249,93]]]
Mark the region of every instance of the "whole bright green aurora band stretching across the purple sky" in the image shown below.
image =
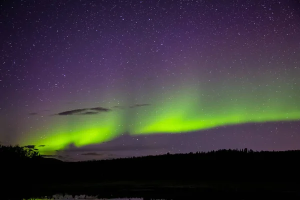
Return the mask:
[[[48,154],[71,143],[77,147],[101,143],[123,133],[182,133],[224,125],[300,119],[297,95],[300,92],[295,84],[230,88],[229,91],[185,88],[156,96],[146,102],[150,103],[147,106],[111,108],[112,111],[95,115],[52,116],[50,128],[30,133],[31,137],[22,138],[20,144],[46,145],[38,148],[42,154]]]

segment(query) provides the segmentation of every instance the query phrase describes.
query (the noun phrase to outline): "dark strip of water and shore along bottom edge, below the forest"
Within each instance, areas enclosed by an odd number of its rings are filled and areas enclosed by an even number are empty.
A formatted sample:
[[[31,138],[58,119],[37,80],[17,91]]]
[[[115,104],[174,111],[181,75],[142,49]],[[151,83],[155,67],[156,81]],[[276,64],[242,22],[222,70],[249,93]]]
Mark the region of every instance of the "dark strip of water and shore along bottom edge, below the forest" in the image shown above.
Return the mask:
[[[160,184],[160,185],[159,185]],[[167,186],[169,185],[169,186]],[[54,194],[86,194],[98,198],[139,197],[143,199],[293,199],[299,198],[295,182],[202,182],[197,184],[110,182],[36,186],[26,191],[6,193],[1,199],[34,199]]]

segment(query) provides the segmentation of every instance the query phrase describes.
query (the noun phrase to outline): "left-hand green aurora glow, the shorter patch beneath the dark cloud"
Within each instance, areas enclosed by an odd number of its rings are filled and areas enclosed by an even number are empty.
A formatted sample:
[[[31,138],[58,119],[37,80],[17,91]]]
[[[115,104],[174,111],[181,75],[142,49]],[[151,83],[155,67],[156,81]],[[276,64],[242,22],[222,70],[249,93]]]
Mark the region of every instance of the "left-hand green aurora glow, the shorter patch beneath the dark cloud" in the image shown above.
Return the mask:
[[[34,145],[45,145],[39,148],[41,154],[51,154],[55,150],[63,149],[69,144],[75,146],[84,146],[111,140],[121,134],[124,129],[120,125],[121,112],[105,113],[105,117],[99,115],[88,116],[55,116],[67,117],[69,123],[56,121],[53,128],[49,128],[43,132],[39,138],[34,135],[26,143],[34,143]],[[64,121],[64,120],[63,120]]]

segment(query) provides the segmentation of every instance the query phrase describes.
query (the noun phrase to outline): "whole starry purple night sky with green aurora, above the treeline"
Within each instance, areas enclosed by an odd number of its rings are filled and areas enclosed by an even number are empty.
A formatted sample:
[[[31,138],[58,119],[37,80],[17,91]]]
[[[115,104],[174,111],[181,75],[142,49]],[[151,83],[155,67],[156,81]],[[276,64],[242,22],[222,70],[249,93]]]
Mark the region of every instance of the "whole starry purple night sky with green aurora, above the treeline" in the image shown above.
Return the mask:
[[[63,160],[300,147],[297,0],[1,0],[0,142]]]

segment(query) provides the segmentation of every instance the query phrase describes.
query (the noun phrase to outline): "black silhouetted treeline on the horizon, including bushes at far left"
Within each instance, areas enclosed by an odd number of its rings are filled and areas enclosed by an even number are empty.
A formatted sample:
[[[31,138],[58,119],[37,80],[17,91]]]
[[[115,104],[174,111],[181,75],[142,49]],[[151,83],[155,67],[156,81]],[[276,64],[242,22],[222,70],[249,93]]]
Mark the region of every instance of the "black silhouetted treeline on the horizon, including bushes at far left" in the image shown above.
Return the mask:
[[[11,160],[18,159],[19,153],[20,157],[29,158],[16,164]],[[9,156],[11,158],[7,158]],[[38,184],[107,181],[199,182],[228,179],[297,180],[300,177],[299,158],[300,150],[253,151],[245,148],[62,162],[41,158],[37,152],[20,146],[0,147],[1,165],[7,173],[19,179],[34,180],[32,183]]]

